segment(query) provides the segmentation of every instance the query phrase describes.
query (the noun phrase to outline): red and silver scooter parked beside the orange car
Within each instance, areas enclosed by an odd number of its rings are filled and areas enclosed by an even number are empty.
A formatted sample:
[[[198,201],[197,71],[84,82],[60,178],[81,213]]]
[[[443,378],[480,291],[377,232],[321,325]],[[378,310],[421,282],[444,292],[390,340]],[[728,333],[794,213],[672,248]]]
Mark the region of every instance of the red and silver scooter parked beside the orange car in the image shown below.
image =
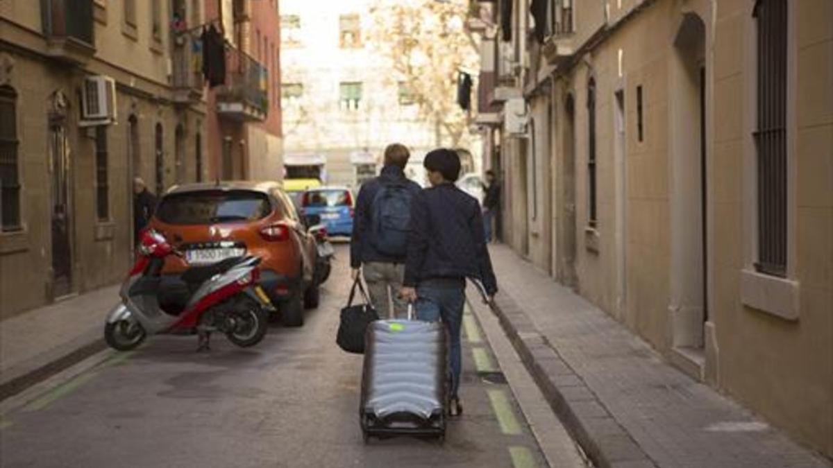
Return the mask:
[[[107,345],[129,351],[148,335],[197,333],[197,351],[202,351],[208,349],[212,331],[225,333],[237,346],[254,346],[266,335],[275,307],[257,285],[257,256],[237,256],[163,276],[167,256],[185,260],[152,230],[142,233],[137,254],[122,284],[122,302],[107,316]]]

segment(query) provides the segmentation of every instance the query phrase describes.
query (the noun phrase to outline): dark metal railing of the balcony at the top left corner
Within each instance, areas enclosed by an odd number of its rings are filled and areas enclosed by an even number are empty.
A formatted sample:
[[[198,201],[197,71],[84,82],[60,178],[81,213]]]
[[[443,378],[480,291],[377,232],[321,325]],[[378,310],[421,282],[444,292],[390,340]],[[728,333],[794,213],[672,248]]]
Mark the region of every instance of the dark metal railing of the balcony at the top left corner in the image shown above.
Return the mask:
[[[41,0],[43,33],[49,38],[72,38],[92,47],[92,0]]]

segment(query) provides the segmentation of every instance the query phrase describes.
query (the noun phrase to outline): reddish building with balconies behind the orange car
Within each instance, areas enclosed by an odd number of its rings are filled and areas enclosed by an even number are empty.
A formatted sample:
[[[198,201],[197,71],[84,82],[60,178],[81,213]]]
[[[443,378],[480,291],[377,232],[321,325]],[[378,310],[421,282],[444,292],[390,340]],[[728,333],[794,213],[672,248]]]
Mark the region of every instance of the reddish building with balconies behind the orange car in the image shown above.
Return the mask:
[[[207,92],[212,179],[281,180],[278,0],[204,0],[226,41],[226,79]]]

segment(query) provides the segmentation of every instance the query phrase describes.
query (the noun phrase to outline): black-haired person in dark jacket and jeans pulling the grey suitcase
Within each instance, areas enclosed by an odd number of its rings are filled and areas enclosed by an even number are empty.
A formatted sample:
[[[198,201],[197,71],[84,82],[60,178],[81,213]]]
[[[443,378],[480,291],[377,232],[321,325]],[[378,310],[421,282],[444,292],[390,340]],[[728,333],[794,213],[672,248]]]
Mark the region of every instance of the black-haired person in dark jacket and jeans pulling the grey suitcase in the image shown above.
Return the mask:
[[[429,152],[423,164],[431,188],[419,192],[412,202],[402,297],[416,304],[418,319],[441,320],[448,329],[451,412],[459,415],[466,278],[481,281],[489,301],[497,292],[497,281],[486,249],[480,203],[454,184],[460,177],[460,157],[441,148]]]

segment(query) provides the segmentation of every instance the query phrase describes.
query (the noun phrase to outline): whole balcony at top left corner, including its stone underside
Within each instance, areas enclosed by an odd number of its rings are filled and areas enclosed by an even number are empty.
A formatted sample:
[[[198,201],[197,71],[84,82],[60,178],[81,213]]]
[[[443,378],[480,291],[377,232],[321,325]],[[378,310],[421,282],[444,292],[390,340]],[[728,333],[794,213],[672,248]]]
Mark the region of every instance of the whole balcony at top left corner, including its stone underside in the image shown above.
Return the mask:
[[[83,64],[96,52],[92,0],[41,0],[47,55]]]

